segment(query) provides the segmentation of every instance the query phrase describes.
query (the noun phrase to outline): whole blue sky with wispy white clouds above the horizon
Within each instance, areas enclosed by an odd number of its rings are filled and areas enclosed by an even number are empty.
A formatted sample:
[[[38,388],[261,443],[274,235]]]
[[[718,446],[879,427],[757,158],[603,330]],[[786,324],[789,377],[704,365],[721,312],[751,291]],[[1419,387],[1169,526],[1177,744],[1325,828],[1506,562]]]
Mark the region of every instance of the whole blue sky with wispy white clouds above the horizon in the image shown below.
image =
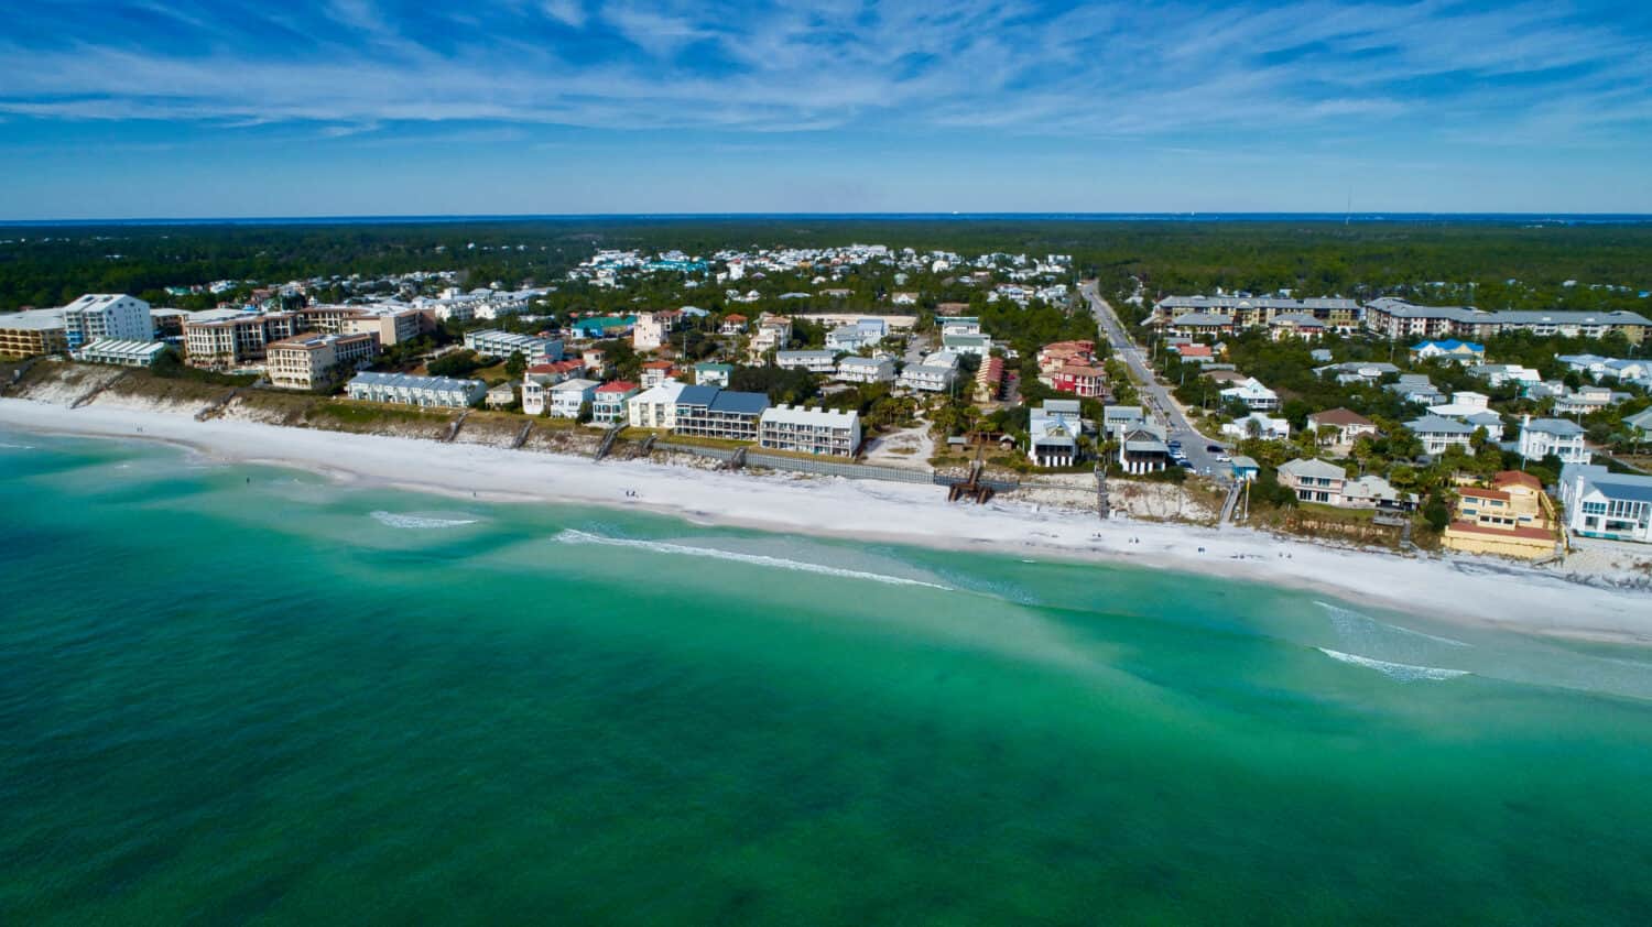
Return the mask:
[[[51,0],[0,218],[1652,213],[1647,3]]]

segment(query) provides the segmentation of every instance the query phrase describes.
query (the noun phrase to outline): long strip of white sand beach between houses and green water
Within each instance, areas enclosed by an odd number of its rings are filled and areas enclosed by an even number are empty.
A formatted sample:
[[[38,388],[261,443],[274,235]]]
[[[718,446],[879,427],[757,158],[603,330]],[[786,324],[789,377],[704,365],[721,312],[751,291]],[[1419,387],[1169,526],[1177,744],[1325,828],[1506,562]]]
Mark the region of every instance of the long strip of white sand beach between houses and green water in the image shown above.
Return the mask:
[[[1284,540],[1249,529],[1199,529],[1039,511],[1032,506],[947,504],[938,486],[755,478],[648,463],[605,461],[279,428],[195,421],[188,415],[68,410],[0,400],[0,425],[31,431],[172,441],[223,459],[278,463],[342,481],[491,501],[553,501],[644,507],[729,525],[955,547],[1008,555],[1108,559],[1156,568],[1328,590],[1447,620],[1548,635],[1652,641],[1652,593],[1596,588],[1507,562],[1408,559]],[[142,433],[139,433],[142,428]],[[626,496],[636,491],[639,497]],[[1132,544],[1138,539],[1138,544]],[[1203,552],[1199,549],[1203,547]]]

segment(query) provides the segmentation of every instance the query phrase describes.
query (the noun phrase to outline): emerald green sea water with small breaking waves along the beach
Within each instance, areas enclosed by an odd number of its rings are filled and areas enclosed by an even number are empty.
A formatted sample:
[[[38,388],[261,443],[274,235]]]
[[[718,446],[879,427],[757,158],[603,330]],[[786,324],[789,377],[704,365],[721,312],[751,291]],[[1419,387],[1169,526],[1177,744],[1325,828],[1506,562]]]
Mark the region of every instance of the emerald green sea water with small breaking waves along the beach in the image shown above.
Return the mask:
[[[0,444],[0,924],[1652,919],[1642,649]]]

